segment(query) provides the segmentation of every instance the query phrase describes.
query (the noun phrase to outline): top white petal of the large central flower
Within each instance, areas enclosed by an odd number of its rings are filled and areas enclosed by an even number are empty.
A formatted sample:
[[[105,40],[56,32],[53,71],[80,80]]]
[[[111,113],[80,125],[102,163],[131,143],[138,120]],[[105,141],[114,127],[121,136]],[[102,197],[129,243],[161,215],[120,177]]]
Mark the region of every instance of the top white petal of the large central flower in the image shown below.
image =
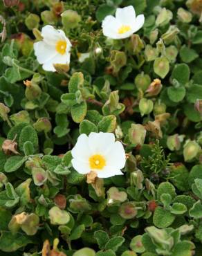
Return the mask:
[[[91,154],[102,154],[105,156],[113,146],[114,141],[115,136],[112,133],[91,132],[91,134],[89,134],[89,148],[91,150]]]

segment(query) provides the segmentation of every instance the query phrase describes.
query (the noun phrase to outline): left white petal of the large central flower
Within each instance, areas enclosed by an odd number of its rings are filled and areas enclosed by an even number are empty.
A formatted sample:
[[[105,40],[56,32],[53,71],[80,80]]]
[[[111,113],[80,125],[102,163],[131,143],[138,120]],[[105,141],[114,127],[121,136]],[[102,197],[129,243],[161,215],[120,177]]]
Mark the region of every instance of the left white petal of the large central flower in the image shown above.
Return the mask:
[[[86,134],[81,134],[77,138],[77,143],[73,149],[71,149],[71,154],[76,160],[84,161],[89,165],[89,157],[91,156],[91,153],[89,149],[89,138]]]

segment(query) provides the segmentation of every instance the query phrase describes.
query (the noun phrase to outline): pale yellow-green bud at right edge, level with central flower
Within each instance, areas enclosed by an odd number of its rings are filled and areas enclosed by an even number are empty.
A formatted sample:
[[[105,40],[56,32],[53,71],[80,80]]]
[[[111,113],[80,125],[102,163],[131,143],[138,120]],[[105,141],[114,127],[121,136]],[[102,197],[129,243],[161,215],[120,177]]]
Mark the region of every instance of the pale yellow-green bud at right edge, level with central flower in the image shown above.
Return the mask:
[[[194,159],[199,153],[200,149],[201,147],[198,143],[196,143],[195,140],[187,140],[183,149],[183,156],[185,158],[185,162]]]

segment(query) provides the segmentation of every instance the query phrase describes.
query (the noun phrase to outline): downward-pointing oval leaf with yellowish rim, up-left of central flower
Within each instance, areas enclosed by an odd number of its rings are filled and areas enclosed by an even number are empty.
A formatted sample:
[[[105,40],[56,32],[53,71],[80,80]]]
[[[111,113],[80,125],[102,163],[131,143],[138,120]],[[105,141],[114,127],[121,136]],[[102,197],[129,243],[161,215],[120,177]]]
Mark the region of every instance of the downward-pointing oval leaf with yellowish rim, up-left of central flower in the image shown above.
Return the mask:
[[[71,117],[74,122],[80,123],[84,120],[87,113],[86,102],[81,102],[80,104],[75,104],[71,107]]]

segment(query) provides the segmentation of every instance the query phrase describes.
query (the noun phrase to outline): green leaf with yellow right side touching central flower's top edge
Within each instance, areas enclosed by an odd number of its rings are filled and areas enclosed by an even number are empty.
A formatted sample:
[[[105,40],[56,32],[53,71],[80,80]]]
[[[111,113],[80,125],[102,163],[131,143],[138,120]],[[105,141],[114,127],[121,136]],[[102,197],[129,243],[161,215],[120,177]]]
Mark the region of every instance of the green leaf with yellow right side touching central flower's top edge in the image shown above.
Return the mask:
[[[116,128],[116,116],[104,116],[98,123],[98,130],[102,132],[113,132]]]

